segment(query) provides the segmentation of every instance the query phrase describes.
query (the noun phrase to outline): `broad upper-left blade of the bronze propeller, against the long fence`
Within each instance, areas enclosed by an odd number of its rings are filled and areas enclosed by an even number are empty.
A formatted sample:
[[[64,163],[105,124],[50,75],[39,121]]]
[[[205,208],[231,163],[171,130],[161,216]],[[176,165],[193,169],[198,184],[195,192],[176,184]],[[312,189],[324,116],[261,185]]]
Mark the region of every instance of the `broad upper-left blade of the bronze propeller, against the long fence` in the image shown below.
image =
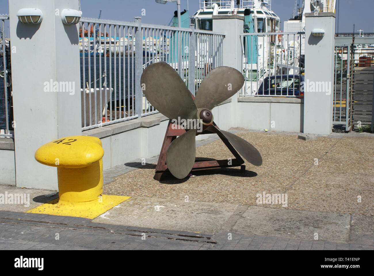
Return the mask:
[[[197,108],[187,86],[166,62],[148,65],[141,76],[147,100],[169,119],[196,119]]]

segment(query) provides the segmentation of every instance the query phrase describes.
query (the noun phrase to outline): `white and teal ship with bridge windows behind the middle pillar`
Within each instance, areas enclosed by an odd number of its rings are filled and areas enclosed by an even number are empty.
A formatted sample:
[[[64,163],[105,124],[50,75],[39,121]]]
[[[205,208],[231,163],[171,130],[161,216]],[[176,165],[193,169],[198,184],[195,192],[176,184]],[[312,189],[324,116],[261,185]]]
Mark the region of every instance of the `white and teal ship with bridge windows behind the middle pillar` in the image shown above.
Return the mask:
[[[281,42],[281,36],[253,35],[281,32],[280,18],[272,10],[272,0],[200,0],[200,9],[191,17],[191,24],[199,30],[212,31],[212,17],[215,15],[243,16],[243,33],[248,33],[248,36],[242,38],[245,77],[243,93],[254,95],[263,78],[276,73],[273,58],[275,53],[278,54],[278,59],[282,57],[282,64],[286,62],[281,51],[288,47],[282,48],[281,45],[288,42]],[[292,43],[292,50],[294,44]]]

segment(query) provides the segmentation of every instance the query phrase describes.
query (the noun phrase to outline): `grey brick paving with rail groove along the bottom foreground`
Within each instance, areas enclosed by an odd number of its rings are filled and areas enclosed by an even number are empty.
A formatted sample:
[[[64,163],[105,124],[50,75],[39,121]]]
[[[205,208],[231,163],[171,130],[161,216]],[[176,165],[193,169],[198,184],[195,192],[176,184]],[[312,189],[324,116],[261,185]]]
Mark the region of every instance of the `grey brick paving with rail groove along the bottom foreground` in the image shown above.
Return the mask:
[[[349,243],[246,235],[213,235],[92,223],[86,218],[0,211],[0,250],[373,250],[374,235]]]

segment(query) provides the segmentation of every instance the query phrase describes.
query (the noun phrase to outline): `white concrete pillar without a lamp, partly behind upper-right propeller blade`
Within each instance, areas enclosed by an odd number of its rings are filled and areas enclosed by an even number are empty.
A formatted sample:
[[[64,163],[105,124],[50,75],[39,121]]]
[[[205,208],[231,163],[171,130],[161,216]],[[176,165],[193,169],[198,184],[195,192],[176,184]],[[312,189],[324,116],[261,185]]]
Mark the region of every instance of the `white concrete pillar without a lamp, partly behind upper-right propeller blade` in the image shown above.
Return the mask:
[[[222,65],[229,66],[243,71],[242,61],[242,45],[240,41],[240,34],[244,30],[244,16],[240,15],[214,15],[213,31],[217,33],[224,33],[223,40],[223,58]],[[239,98],[240,91],[232,96],[231,102],[231,125],[237,127],[237,99]],[[227,114],[229,115],[229,114]]]

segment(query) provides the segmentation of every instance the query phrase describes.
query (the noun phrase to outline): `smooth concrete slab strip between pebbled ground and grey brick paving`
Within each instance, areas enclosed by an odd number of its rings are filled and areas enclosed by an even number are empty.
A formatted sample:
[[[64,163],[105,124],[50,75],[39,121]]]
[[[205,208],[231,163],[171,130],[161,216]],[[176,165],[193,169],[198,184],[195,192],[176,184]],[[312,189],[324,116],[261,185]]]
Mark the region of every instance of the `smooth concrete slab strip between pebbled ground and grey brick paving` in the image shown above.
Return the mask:
[[[373,216],[356,215],[360,234],[373,233]],[[133,197],[93,222],[214,234],[227,230],[250,235],[349,242],[352,215],[243,206],[228,203]]]

